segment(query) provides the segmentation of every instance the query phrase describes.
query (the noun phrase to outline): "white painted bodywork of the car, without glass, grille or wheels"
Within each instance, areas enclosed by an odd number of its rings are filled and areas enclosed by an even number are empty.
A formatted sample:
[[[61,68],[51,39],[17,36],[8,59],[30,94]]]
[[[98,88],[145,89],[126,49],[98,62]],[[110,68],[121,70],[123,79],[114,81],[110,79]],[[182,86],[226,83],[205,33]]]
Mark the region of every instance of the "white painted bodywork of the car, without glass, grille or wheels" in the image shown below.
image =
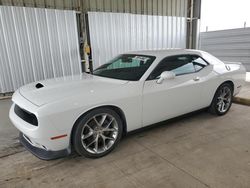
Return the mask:
[[[40,89],[35,87],[36,83],[21,87],[12,98],[12,123],[32,142],[57,151],[69,147],[74,123],[93,108],[106,105],[120,108],[126,118],[127,130],[132,131],[208,107],[215,91],[225,81],[234,83],[234,94],[237,94],[245,80],[245,69],[241,64],[229,63],[230,69],[227,69],[223,62],[205,52],[158,50],[139,53],[155,55],[156,60],[138,81],[81,74],[41,81],[44,87]],[[183,54],[196,54],[210,64],[198,72],[179,75],[161,84],[157,84],[157,80],[147,80],[163,58]],[[39,125],[33,126],[18,117],[14,112],[15,104],[35,114]],[[63,134],[68,136],[50,139]]]

